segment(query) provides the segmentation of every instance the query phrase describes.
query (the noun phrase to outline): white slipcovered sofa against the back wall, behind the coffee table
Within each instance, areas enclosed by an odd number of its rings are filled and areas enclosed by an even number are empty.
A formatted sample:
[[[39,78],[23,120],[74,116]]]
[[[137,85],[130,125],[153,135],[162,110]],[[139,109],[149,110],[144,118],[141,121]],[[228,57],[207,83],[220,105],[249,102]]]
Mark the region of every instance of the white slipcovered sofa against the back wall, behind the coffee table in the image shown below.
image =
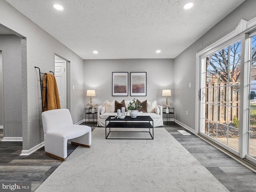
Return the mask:
[[[130,100],[124,101],[127,109],[127,105],[129,102],[132,102]],[[152,103],[152,102],[151,102]],[[108,116],[116,116],[117,112],[106,112],[106,110],[102,110],[105,107],[106,102],[103,102],[102,105],[98,106],[97,112],[98,112],[98,126],[106,127],[106,118]],[[163,126],[163,107],[156,104],[156,107],[159,109],[156,109],[155,112],[138,112],[138,116],[150,116],[153,119],[154,127]],[[126,116],[130,116],[129,112],[125,112]],[[159,113],[159,114],[158,114]]]

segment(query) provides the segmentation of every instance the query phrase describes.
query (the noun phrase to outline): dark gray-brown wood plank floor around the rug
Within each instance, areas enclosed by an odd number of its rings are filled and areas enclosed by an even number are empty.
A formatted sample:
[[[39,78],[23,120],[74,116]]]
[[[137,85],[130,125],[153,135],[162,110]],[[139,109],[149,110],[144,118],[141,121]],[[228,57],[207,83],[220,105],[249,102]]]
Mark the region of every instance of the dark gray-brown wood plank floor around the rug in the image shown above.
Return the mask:
[[[95,128],[93,124],[87,125]],[[230,192],[256,192],[256,173],[189,131],[191,135],[180,134],[177,130],[185,129],[177,124],[168,123],[164,128]],[[68,144],[68,155],[76,147]],[[62,162],[46,156],[44,147],[30,156],[19,156],[21,150],[22,142],[0,142],[0,181],[31,181],[34,191]]]

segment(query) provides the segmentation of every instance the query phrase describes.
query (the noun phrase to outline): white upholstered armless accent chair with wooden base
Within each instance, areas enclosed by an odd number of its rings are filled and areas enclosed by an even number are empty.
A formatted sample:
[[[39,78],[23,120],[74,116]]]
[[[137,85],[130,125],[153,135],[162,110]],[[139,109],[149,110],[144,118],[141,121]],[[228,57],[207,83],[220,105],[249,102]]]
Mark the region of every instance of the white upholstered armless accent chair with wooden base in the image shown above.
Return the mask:
[[[46,155],[65,161],[67,143],[90,148],[92,128],[74,125],[68,109],[54,109],[42,112],[44,128],[44,150]]]

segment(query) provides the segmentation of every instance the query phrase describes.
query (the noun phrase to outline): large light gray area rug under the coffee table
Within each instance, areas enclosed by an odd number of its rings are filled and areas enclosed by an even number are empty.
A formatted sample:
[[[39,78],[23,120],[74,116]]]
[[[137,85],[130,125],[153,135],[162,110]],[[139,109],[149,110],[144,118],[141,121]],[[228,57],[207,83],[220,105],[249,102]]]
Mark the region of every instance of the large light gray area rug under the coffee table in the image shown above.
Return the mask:
[[[91,148],[78,146],[36,192],[228,190],[164,128],[154,128],[154,140],[106,140],[95,128]]]

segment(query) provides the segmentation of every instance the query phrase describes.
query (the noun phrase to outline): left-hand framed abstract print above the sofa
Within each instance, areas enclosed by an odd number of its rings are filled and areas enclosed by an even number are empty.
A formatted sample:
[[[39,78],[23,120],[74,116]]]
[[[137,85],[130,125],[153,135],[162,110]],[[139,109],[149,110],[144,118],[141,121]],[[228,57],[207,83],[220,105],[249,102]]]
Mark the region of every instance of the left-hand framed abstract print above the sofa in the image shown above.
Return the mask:
[[[112,96],[128,96],[128,72],[112,72]]]

